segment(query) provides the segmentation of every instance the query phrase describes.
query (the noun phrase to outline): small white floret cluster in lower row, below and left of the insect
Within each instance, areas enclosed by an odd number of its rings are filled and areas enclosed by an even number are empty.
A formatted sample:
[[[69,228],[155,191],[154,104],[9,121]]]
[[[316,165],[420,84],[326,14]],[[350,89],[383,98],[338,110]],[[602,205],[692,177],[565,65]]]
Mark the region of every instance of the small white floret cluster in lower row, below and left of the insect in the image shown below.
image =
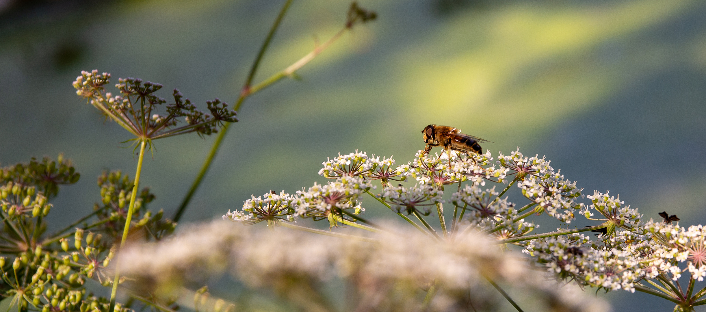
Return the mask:
[[[390,186],[379,196],[381,200],[389,203],[393,210],[405,212],[407,215],[419,212],[422,215],[429,215],[430,205],[442,203],[443,191],[424,184],[417,184],[412,187]]]

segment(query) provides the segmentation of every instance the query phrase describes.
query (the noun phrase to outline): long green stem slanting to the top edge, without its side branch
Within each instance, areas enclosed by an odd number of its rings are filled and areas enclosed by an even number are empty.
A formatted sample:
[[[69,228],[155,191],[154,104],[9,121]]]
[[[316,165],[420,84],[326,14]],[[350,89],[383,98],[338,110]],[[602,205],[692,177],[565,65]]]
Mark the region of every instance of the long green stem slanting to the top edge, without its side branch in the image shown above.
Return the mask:
[[[243,90],[240,93],[240,96],[238,97],[238,100],[233,107],[234,111],[238,111],[240,109],[241,104],[243,104],[243,101],[245,98],[248,96],[249,90],[250,90],[250,85],[253,83],[253,79],[255,78],[255,74],[258,71],[258,66],[260,66],[260,62],[263,59],[263,56],[265,56],[265,52],[267,51],[267,48],[270,46],[270,42],[273,40],[275,37],[275,32],[277,32],[277,28],[280,28],[280,23],[282,23],[282,19],[285,18],[285,15],[287,14],[287,10],[289,9],[289,6],[292,5],[293,0],[287,0],[285,2],[285,5],[282,6],[280,9],[280,14],[277,15],[277,18],[275,19],[275,23],[273,23],[272,27],[270,28],[270,32],[268,32],[267,37],[265,37],[265,42],[263,42],[262,46],[260,47],[260,51],[258,51],[258,56],[256,56],[255,61],[253,61],[253,66],[250,68],[250,72],[248,73],[248,78],[245,80],[245,85],[243,85]],[[246,90],[248,90],[246,92]],[[251,93],[251,92],[250,92]],[[218,137],[216,138],[215,142],[213,142],[213,146],[211,146],[210,152],[208,152],[208,157],[206,157],[206,160],[203,162],[201,165],[201,171],[198,172],[198,175],[196,176],[196,179],[193,180],[193,183],[191,184],[191,188],[189,188],[189,192],[186,193],[186,196],[184,196],[184,200],[181,200],[181,205],[179,205],[179,209],[177,209],[177,213],[174,214],[174,222],[179,222],[179,219],[181,219],[181,215],[184,214],[184,210],[186,210],[186,207],[189,205],[189,202],[191,202],[191,197],[193,197],[193,194],[196,193],[196,189],[198,189],[198,186],[201,185],[201,181],[203,181],[203,177],[206,175],[208,172],[208,169],[211,167],[211,164],[213,163],[213,158],[215,157],[216,153],[218,152],[218,149],[220,148],[220,145],[223,141],[223,138],[225,137],[225,134],[228,132],[228,128],[230,128],[230,123],[227,123],[221,128],[220,133],[218,133]]]

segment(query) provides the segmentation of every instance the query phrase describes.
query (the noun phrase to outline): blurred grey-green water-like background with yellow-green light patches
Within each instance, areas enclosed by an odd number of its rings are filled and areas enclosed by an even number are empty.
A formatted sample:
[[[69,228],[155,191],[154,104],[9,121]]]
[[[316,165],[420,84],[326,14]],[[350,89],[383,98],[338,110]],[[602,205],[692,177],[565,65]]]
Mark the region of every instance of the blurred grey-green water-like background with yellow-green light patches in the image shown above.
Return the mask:
[[[179,88],[205,109],[229,103],[282,0],[0,1],[2,164],[71,158],[83,174],[54,201],[55,227],[99,200],[104,169],[134,174],[130,136],[71,82],[97,68]],[[297,0],[256,81],[308,53],[345,20],[347,1]],[[586,193],[611,190],[646,217],[706,223],[706,1],[361,1],[377,21],[246,100],[182,222],[220,218],[251,194],[293,193],[326,157],[356,149],[406,163],[421,129],[444,124],[484,148],[546,155]],[[158,140],[142,182],[169,214],[213,138]],[[368,214],[390,217],[371,204]],[[59,213],[57,213],[59,212]],[[583,225],[583,224],[581,224]],[[546,230],[551,230],[551,227]],[[671,311],[645,294],[616,311]]]

